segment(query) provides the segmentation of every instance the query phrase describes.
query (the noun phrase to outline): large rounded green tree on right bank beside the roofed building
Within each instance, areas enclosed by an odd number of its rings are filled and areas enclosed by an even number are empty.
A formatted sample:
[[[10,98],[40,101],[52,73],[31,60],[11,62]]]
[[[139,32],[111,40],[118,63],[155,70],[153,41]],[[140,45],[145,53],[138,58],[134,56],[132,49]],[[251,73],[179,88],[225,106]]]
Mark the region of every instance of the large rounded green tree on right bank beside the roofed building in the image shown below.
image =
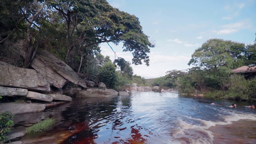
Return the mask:
[[[230,40],[210,39],[192,54],[188,62],[194,66],[200,66],[213,70],[220,75],[220,69],[227,71],[242,66],[244,63],[244,44]]]

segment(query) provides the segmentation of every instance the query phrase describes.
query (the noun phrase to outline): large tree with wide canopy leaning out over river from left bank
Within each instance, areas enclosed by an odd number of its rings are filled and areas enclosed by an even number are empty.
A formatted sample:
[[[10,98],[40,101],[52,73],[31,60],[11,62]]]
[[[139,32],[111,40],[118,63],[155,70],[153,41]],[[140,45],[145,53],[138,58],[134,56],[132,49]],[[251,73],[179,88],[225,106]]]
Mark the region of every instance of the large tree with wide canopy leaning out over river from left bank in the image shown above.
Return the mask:
[[[113,8],[106,0],[61,0],[48,3],[49,8],[62,14],[66,23],[67,49],[66,63],[71,52],[78,46],[85,47],[102,42],[123,43],[124,51],[132,52],[133,64],[149,65],[149,42],[138,18]]]

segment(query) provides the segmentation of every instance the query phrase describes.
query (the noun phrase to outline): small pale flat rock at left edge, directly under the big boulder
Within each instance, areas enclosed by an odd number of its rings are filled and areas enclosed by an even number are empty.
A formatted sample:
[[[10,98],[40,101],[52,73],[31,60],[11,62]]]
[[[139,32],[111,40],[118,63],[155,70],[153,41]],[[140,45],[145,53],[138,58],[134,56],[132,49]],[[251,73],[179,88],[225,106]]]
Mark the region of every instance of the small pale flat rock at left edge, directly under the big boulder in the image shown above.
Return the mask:
[[[9,88],[0,86],[0,94],[2,96],[26,96],[27,93],[28,90],[24,88]]]

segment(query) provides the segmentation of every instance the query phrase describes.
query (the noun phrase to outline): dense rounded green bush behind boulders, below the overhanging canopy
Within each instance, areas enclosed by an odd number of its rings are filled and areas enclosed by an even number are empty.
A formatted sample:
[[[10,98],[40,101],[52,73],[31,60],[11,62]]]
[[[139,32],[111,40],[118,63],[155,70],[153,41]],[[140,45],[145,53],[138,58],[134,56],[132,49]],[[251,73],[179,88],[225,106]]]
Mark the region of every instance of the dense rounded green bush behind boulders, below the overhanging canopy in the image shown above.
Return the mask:
[[[116,72],[116,66],[111,62],[106,62],[102,66],[99,77],[100,81],[104,82],[107,88],[114,88],[118,83],[118,73]]]

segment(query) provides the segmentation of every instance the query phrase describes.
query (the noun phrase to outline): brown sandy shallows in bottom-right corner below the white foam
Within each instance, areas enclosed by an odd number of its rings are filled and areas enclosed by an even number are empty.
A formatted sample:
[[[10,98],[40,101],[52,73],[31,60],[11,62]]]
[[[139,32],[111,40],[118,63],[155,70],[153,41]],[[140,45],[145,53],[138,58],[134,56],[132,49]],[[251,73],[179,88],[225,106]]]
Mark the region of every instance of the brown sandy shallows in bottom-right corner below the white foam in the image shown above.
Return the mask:
[[[256,121],[238,120],[208,130],[214,133],[214,144],[256,144]]]

